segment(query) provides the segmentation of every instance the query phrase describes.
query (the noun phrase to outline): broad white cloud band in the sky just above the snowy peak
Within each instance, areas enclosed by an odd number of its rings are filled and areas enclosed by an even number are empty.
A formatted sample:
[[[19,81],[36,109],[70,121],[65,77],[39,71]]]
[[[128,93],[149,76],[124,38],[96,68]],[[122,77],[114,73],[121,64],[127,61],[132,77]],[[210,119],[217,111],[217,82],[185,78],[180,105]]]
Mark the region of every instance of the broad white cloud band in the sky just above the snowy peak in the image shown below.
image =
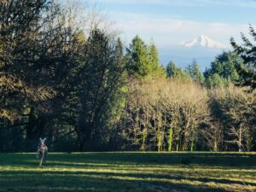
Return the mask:
[[[165,15],[142,15],[133,13],[112,13],[116,26],[123,32],[126,43],[135,35],[145,41],[154,39],[160,48],[177,45],[204,34],[223,44],[230,44],[230,37],[240,39],[240,32],[247,34],[248,25],[226,23],[203,23],[194,20],[182,20]]]

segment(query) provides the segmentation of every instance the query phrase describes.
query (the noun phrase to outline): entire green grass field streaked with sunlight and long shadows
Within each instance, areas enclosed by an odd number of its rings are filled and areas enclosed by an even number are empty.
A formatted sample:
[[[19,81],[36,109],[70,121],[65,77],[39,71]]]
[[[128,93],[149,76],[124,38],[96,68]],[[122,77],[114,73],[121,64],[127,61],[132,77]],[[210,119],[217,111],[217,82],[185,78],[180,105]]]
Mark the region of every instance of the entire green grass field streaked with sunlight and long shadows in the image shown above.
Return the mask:
[[[0,191],[256,191],[256,154],[0,154]]]

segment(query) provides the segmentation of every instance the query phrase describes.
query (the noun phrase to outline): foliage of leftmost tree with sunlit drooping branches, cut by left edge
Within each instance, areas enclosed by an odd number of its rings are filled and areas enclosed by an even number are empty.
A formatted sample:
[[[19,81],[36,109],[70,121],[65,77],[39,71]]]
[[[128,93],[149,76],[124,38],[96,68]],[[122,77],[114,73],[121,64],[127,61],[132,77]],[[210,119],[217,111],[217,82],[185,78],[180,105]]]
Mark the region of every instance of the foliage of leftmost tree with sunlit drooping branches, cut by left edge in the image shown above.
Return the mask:
[[[27,103],[34,105],[55,96],[55,90],[44,82],[50,80],[49,69],[56,64],[47,60],[44,44],[49,31],[43,29],[55,15],[45,14],[51,7],[45,0],[0,3],[0,118],[13,121],[20,118]]]

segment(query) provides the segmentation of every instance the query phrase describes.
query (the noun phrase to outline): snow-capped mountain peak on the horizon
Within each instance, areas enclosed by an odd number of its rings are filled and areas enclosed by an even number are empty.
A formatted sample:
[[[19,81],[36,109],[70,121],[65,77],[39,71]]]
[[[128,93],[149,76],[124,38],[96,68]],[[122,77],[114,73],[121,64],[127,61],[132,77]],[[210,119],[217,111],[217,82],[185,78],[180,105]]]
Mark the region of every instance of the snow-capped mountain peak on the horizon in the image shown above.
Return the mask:
[[[194,38],[191,42],[182,42],[179,45],[186,48],[204,47],[204,48],[215,48],[215,49],[226,49],[227,45],[213,41],[205,35],[201,35],[198,38]]]

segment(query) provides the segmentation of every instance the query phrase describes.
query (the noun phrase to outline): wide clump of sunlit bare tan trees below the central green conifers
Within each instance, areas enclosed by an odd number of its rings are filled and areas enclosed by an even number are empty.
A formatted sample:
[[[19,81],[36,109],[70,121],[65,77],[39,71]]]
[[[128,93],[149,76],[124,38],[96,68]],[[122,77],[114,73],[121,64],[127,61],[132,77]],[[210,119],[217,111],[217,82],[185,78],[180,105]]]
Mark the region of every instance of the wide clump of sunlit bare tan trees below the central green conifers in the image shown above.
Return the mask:
[[[208,118],[207,91],[199,84],[175,79],[133,81],[120,130],[131,149],[188,150],[200,145],[198,130]]]

